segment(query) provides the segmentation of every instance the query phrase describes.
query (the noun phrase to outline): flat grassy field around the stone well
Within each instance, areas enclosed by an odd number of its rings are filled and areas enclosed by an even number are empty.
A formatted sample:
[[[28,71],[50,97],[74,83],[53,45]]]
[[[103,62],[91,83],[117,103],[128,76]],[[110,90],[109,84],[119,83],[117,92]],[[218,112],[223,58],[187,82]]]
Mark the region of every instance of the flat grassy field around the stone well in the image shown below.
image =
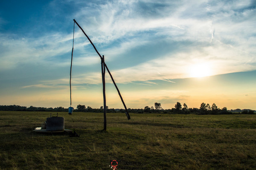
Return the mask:
[[[80,137],[33,133],[49,114],[0,111],[0,169],[256,169],[256,115],[107,113],[102,131],[103,113],[62,112]]]

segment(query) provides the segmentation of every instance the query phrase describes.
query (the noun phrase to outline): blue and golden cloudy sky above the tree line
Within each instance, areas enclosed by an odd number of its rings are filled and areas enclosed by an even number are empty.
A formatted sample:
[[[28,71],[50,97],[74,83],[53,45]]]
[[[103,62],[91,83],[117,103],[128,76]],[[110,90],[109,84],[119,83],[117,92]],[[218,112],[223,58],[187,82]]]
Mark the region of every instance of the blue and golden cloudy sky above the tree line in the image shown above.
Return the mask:
[[[0,105],[70,106],[73,19],[127,108],[256,109],[256,0],[1,0]],[[100,57],[74,37],[72,106],[100,108]],[[124,108],[106,82],[108,107]]]

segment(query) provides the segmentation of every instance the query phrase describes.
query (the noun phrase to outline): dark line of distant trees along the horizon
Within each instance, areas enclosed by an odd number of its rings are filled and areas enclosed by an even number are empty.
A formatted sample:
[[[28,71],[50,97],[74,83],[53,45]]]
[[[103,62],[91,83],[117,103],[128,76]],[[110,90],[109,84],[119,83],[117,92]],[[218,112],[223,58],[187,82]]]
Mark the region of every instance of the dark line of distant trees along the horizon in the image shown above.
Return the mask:
[[[114,109],[107,108],[107,113],[116,113],[122,112],[125,113],[125,109]],[[0,105],[0,111],[51,111],[51,112],[68,112],[68,108],[56,107],[56,108],[44,108],[44,107],[34,107],[30,106],[27,108],[26,106],[19,105]],[[90,106],[85,105],[77,105],[74,112],[95,112],[101,113],[103,112],[103,106],[100,108],[91,108]],[[201,103],[200,108],[189,108],[186,103],[181,105],[180,102],[177,102],[172,109],[163,109],[161,103],[154,103],[154,107],[145,106],[144,109],[131,109],[128,108],[129,113],[180,113],[180,114],[233,114],[233,113],[241,113],[241,114],[254,114],[255,111],[250,109],[236,109],[228,111],[226,107],[218,108],[215,103],[209,105],[208,103]]]

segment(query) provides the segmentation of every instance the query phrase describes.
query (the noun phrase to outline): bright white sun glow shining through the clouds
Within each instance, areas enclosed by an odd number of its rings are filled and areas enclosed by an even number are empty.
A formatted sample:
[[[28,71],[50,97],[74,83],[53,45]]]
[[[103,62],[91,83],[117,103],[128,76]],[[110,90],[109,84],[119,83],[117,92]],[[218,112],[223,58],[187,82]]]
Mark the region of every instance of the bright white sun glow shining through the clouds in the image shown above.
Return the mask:
[[[190,77],[207,77],[211,75],[210,65],[207,63],[198,63],[192,65],[189,69]]]

